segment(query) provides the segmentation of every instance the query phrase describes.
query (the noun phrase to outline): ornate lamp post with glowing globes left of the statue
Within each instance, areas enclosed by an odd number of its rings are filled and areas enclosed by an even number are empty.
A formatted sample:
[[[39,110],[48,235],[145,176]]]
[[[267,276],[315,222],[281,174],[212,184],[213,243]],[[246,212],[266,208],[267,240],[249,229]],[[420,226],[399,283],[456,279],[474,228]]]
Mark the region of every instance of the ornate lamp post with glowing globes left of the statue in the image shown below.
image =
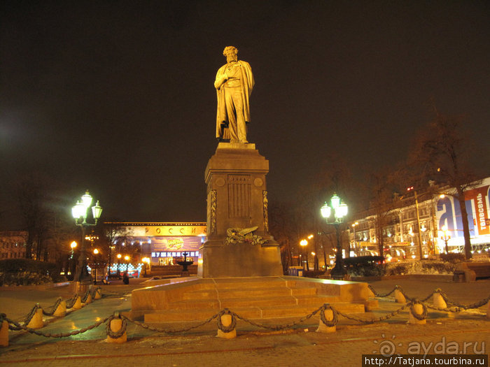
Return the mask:
[[[97,225],[100,215],[102,215],[102,207],[99,206],[99,201],[92,206],[92,217],[94,223],[87,222],[88,208],[92,205],[92,196],[90,196],[88,190],[82,196],[81,201],[77,201],[76,205],[71,208],[71,214],[75,220],[75,224],[82,229],[82,243],[80,245],[80,255],[78,256],[78,269],[73,280],[76,282],[90,281],[90,275],[87,271],[87,253],[85,250],[85,230],[88,226]]]

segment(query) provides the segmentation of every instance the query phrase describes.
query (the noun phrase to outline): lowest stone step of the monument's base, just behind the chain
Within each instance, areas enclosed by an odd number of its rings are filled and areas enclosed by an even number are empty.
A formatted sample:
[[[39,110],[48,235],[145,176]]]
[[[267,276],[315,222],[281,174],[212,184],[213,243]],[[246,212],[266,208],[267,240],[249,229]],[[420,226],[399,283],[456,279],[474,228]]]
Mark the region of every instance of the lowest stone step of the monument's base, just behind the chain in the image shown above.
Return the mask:
[[[277,319],[282,317],[297,317],[298,319],[318,310],[322,304],[317,305],[276,305],[269,307],[230,307],[229,309],[241,317],[247,319]],[[364,312],[364,305],[360,303],[338,302],[331,304],[336,310],[346,314]],[[147,312],[144,322],[148,324],[160,324],[165,322],[203,322],[216,315],[221,309],[207,308],[196,310],[164,310]],[[318,318],[318,314],[314,317]],[[214,321],[216,322],[216,321]]]

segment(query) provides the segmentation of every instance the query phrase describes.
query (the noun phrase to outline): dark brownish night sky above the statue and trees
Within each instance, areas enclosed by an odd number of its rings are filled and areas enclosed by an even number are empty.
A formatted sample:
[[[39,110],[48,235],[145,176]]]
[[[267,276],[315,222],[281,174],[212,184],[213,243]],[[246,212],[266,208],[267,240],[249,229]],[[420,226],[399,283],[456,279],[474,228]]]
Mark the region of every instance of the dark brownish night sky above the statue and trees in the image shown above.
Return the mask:
[[[205,221],[216,71],[252,66],[249,141],[284,200],[332,152],[405,159],[430,100],[464,113],[489,171],[487,1],[2,1],[0,222],[41,171],[104,216]],[[76,201],[73,196],[73,203]],[[11,224],[13,225],[13,224]]]

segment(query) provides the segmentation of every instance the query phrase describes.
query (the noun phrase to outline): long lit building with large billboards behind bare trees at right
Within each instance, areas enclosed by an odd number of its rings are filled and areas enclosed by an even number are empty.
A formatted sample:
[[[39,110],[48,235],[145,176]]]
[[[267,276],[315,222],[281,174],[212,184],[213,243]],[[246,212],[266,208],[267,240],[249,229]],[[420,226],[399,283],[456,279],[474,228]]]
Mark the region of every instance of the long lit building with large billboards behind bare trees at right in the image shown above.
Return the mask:
[[[472,253],[490,254],[490,178],[465,191]],[[351,222],[351,248],[356,255],[379,254],[383,236],[388,258],[431,257],[445,252],[464,253],[461,208],[455,189],[437,189],[437,194],[416,192],[393,203],[385,213],[363,213]],[[407,197],[408,196],[408,197]],[[356,224],[357,223],[357,224]],[[354,224],[354,225],[353,225]]]

